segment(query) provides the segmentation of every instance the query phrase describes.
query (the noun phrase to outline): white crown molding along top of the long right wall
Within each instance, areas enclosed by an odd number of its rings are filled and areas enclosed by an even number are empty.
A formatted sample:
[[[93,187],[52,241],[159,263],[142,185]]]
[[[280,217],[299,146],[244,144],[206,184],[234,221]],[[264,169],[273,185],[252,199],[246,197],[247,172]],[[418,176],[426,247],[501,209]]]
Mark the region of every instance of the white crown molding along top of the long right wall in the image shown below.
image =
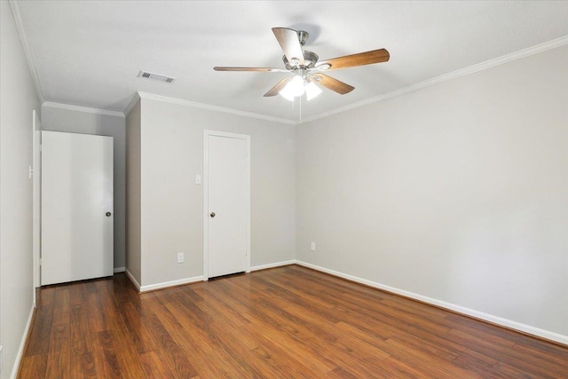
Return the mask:
[[[526,58],[526,57],[529,57],[529,56],[534,55],[534,54],[538,54],[538,53],[543,52],[543,51],[556,49],[557,47],[561,47],[561,46],[564,46],[566,44],[568,44],[568,36],[556,38],[552,41],[548,41],[546,43],[540,43],[540,44],[537,44],[535,46],[529,47],[529,48],[524,49],[524,50],[516,51],[516,52],[513,52],[511,54],[503,55],[502,57],[499,57],[499,58],[496,58],[496,59],[490,59],[490,60],[487,60],[485,62],[478,63],[477,65],[461,68],[457,71],[454,71],[454,72],[451,72],[451,73],[448,73],[448,74],[444,74],[444,75],[440,75],[440,76],[434,77],[432,79],[428,79],[428,80],[425,80],[423,82],[410,85],[408,87],[402,88],[402,89],[397,90],[397,91],[391,91],[391,92],[385,93],[383,95],[375,96],[374,98],[371,98],[371,99],[366,99],[366,100],[362,100],[362,101],[350,104],[349,106],[336,108],[334,110],[324,112],[324,113],[321,113],[321,114],[316,114],[312,117],[304,118],[304,120],[302,120],[302,122],[297,122],[297,123],[302,124],[302,123],[305,123],[305,122],[312,122],[312,121],[315,121],[315,120],[319,120],[319,119],[322,119],[322,118],[329,117],[330,115],[341,114],[343,112],[347,112],[347,111],[350,111],[350,110],[355,109],[355,108],[364,107],[364,106],[367,106],[369,104],[378,103],[378,102],[386,100],[386,99],[395,98],[397,96],[404,95],[405,93],[408,93],[408,92],[422,90],[422,88],[430,87],[431,85],[443,83],[443,82],[446,82],[448,80],[452,80],[452,79],[455,79],[455,78],[458,78],[458,77],[461,77],[461,76],[474,74],[474,73],[486,70],[486,69],[491,68],[491,67],[501,66],[501,65],[504,65],[505,63],[512,62],[513,60]]]

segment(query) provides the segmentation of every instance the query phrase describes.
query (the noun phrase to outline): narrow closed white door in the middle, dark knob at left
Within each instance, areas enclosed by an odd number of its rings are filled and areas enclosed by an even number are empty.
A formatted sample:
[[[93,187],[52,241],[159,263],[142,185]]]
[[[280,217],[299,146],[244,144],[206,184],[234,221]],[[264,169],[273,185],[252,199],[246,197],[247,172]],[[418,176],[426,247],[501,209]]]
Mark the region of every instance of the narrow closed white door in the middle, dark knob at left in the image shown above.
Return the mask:
[[[206,130],[208,278],[249,270],[249,136]]]

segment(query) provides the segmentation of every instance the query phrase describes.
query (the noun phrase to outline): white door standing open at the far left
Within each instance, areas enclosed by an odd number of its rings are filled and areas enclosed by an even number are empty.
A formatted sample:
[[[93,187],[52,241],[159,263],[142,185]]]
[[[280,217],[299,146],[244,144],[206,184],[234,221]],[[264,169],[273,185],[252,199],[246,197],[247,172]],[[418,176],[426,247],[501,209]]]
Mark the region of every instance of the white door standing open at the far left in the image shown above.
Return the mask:
[[[42,131],[42,285],[113,274],[113,138]]]

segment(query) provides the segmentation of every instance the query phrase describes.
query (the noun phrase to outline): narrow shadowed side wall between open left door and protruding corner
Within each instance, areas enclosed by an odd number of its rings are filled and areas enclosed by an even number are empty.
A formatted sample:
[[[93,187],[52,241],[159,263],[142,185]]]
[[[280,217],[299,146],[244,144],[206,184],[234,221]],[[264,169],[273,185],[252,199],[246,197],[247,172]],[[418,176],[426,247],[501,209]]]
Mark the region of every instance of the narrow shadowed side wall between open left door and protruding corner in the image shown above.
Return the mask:
[[[126,270],[141,282],[140,102],[126,116]]]

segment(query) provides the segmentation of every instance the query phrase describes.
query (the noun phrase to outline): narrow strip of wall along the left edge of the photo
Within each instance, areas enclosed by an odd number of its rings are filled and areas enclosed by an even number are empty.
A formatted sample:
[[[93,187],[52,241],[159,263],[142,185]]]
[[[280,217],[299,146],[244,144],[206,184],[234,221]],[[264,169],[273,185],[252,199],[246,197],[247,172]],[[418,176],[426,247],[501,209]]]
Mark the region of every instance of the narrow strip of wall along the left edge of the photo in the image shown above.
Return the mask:
[[[0,344],[12,375],[33,306],[32,111],[40,111],[36,88],[12,10],[0,2]]]

